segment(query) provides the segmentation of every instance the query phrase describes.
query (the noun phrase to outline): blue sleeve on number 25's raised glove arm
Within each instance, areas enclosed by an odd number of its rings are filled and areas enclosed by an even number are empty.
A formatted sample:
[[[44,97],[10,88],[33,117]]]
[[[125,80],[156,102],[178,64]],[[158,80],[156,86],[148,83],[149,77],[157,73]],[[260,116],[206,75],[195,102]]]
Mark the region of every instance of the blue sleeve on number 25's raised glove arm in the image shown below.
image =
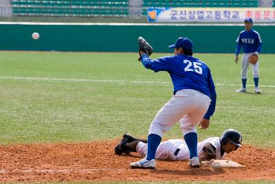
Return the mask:
[[[142,64],[145,68],[155,72],[170,70],[170,60],[172,57],[161,57],[158,59],[150,59],[148,55],[142,54]]]

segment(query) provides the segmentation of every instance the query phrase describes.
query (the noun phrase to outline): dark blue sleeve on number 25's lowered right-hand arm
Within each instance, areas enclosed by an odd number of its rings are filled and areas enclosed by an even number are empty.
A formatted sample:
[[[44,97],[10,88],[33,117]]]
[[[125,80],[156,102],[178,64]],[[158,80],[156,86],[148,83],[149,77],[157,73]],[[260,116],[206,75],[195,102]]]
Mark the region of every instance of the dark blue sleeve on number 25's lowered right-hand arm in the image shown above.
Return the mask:
[[[204,116],[203,116],[204,119],[210,119],[210,116],[212,116],[214,114],[214,110],[216,108],[217,93],[216,93],[216,89],[214,87],[214,82],[213,82],[210,70],[208,71],[207,83],[208,83],[208,89],[210,91],[211,103],[208,107],[206,114],[204,114]]]

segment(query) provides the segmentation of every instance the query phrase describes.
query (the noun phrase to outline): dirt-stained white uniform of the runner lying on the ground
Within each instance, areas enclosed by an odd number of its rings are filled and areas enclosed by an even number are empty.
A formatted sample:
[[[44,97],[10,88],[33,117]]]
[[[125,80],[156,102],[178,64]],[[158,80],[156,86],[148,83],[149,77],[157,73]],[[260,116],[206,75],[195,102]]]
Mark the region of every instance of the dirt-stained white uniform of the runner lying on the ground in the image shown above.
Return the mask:
[[[203,154],[203,146],[206,143],[211,143],[216,148],[216,159],[221,159],[221,143],[219,137],[211,137],[205,139],[198,143],[197,152],[199,160],[206,159]],[[147,153],[147,144],[146,143],[137,143],[136,147],[137,152],[144,156]],[[162,142],[157,147],[157,152],[155,154],[155,159],[159,160],[171,160],[171,161],[188,161],[189,160],[189,150],[186,145],[186,142],[183,139],[170,139],[168,141]]]

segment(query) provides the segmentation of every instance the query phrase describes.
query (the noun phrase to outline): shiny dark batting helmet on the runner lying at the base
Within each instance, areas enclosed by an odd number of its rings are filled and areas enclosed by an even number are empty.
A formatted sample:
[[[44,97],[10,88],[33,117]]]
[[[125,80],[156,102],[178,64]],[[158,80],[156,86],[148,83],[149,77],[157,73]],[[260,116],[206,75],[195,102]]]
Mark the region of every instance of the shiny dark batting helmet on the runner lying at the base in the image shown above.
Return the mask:
[[[236,148],[241,147],[241,140],[241,133],[234,129],[225,130],[225,132],[223,132],[223,134],[221,135],[222,144],[225,144],[227,141],[230,141],[230,143],[237,146]]]

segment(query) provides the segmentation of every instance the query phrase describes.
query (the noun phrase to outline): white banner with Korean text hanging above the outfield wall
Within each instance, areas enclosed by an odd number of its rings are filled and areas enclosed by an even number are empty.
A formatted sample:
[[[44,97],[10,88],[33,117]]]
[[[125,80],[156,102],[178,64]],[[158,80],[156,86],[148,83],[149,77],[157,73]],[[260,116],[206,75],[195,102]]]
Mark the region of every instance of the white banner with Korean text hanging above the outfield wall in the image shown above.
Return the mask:
[[[148,8],[148,22],[274,23],[275,8]]]

